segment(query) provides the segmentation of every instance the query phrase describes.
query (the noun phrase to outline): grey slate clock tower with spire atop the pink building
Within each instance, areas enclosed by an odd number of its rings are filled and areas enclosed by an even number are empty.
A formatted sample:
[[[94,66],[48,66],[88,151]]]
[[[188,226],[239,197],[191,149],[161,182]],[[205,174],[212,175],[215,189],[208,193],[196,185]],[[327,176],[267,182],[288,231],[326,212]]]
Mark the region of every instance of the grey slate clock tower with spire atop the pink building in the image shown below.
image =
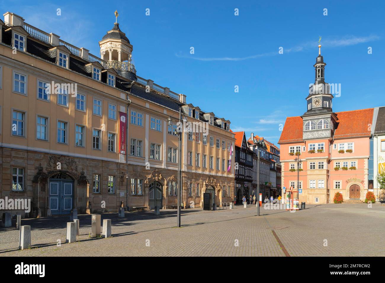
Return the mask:
[[[335,129],[336,115],[331,109],[333,95],[330,85],[325,82],[325,66],[321,56],[321,45],[318,45],[318,57],[315,67],[315,82],[309,85],[309,95],[306,97],[306,112],[303,119],[303,140],[330,138]]]

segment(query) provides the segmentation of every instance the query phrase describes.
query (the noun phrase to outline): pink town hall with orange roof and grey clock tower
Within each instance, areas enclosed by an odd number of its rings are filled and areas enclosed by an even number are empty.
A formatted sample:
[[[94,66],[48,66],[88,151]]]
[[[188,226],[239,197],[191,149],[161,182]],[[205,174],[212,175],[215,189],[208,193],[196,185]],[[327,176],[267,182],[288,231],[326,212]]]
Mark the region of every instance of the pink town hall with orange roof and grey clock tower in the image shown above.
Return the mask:
[[[373,108],[333,112],[325,65],[320,52],[314,65],[315,83],[306,97],[307,111],[286,118],[278,142],[282,186],[300,189],[300,203],[331,203],[336,192],[345,202],[360,202],[368,190]]]

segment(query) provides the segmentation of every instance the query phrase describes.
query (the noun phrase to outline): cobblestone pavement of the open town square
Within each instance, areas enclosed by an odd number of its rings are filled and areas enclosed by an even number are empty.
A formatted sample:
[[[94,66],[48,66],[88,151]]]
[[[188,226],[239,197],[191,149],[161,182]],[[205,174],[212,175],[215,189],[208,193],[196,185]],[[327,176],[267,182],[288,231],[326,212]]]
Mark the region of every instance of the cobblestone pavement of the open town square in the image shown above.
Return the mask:
[[[32,229],[32,249],[24,251],[17,250],[18,230],[0,228],[0,256],[385,256],[379,204],[311,205],[295,213],[262,208],[259,217],[252,205],[183,209],[181,228],[172,209],[159,216],[104,213],[102,219],[112,220],[107,239],[90,238],[90,215],[78,218],[80,236],[71,244],[65,243],[68,216],[22,219]]]

